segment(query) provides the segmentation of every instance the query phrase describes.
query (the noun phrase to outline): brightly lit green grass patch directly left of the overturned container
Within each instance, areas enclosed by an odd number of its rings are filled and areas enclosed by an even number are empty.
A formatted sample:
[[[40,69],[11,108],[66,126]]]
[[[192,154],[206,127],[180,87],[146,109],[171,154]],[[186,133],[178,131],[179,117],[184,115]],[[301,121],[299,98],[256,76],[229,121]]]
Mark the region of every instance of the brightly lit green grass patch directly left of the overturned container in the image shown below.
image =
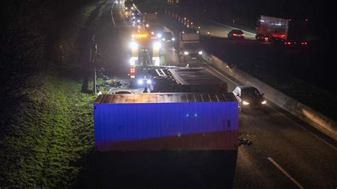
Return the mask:
[[[0,141],[5,186],[58,188],[71,185],[94,146],[95,95],[80,92],[80,82],[48,76],[18,120]],[[2,182],[2,181],[1,181]]]

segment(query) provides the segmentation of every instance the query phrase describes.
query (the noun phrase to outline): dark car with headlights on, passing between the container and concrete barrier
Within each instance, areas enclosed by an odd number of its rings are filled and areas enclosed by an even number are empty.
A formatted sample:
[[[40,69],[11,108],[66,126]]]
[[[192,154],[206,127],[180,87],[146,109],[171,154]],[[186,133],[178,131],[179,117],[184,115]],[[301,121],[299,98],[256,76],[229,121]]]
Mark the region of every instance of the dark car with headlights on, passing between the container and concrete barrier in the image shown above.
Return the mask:
[[[252,86],[238,86],[233,94],[239,102],[240,111],[243,109],[262,108],[267,102],[257,88]]]

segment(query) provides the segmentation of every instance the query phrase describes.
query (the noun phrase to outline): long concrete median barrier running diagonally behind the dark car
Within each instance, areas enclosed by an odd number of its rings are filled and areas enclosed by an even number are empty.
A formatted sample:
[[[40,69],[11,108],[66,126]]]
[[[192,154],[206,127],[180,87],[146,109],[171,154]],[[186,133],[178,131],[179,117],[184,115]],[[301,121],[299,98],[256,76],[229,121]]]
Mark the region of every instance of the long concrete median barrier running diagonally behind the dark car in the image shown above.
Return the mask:
[[[311,109],[301,102],[296,101],[296,99],[284,95],[283,92],[274,89],[273,87],[265,84],[260,80],[257,80],[257,78],[252,77],[245,72],[242,72],[242,70],[238,70],[237,68],[230,68],[230,66],[228,66],[228,63],[220,60],[215,55],[203,53],[203,59],[208,61],[208,63],[213,64],[216,68],[222,70],[227,75],[235,78],[235,80],[242,82],[242,84],[257,87],[260,91],[264,93],[264,96],[269,101],[277,104],[277,106],[281,107],[287,112],[290,112],[294,116],[305,121],[311,126],[314,126],[319,131],[337,141],[336,121],[333,121],[323,114],[316,112],[314,109]]]

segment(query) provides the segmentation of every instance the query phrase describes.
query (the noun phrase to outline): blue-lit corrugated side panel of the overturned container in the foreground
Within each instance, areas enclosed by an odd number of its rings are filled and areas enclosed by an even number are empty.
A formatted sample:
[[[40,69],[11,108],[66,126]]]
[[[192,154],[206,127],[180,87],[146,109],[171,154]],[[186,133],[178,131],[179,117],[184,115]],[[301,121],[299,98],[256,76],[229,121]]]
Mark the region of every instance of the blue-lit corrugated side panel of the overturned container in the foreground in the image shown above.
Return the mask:
[[[100,151],[237,149],[237,102],[95,104]]]

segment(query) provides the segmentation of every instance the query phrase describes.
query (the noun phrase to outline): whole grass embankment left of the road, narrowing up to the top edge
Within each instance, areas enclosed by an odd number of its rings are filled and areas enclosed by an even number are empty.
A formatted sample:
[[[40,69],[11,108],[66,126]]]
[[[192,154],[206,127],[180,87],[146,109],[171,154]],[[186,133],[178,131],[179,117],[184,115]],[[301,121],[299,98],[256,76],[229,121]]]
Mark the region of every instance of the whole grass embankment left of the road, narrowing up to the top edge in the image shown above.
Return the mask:
[[[35,87],[21,90],[24,98],[1,120],[6,126],[0,133],[0,188],[68,188],[85,166],[94,146],[96,95],[80,92],[77,39],[99,4],[82,6],[57,31],[63,63],[34,75],[29,82]]]

